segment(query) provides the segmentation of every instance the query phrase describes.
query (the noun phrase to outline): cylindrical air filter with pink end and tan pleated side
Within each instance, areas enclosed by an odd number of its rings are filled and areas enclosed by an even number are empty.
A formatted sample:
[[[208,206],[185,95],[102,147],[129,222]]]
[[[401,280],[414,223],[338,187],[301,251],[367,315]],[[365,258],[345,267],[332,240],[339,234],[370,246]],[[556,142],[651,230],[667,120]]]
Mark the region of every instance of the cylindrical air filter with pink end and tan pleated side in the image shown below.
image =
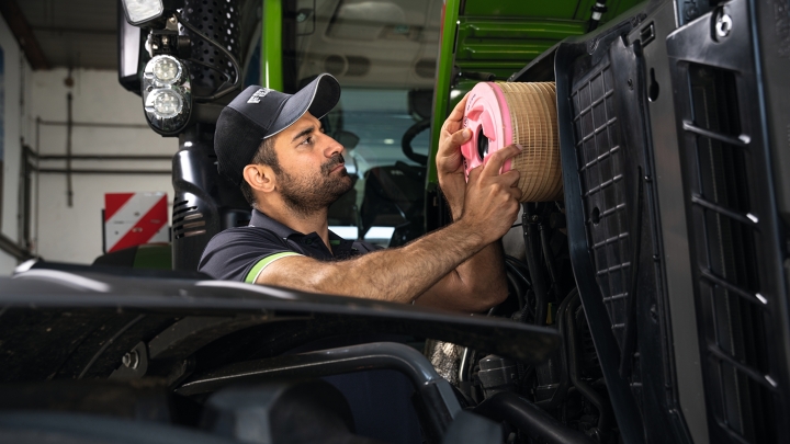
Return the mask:
[[[523,151],[500,172],[521,173],[521,202],[563,198],[554,82],[482,82],[470,92],[463,126],[472,138],[461,147],[466,178],[486,158],[512,144]]]

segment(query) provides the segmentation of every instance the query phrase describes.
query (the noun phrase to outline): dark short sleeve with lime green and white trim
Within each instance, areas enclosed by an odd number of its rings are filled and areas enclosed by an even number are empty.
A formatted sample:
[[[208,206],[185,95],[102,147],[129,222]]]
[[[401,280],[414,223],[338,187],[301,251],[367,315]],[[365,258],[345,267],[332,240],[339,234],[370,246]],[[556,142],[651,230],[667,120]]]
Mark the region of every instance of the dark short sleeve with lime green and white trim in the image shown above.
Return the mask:
[[[245,282],[253,267],[268,264],[268,258],[300,254],[286,247],[274,232],[258,227],[229,228],[208,241],[198,271],[215,280]],[[261,267],[262,269],[262,267]],[[257,270],[259,273],[260,270]]]

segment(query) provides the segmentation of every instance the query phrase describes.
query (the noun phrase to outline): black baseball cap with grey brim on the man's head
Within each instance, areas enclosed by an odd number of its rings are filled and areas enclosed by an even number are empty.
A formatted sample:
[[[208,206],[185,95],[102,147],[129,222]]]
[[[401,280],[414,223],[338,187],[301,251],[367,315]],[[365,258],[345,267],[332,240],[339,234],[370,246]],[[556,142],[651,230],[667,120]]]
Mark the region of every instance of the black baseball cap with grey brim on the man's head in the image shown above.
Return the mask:
[[[214,132],[214,151],[219,174],[237,186],[258,147],[298,121],[309,111],[324,117],[340,100],[340,84],[321,73],[295,94],[259,86],[247,87],[219,113]]]

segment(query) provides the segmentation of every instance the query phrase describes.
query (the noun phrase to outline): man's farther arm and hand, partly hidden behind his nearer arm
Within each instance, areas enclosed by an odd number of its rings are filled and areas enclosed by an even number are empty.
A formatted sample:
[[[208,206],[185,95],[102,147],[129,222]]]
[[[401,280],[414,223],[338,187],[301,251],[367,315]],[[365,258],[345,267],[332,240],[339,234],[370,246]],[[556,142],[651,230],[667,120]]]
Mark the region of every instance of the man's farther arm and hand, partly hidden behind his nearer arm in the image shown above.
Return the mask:
[[[471,137],[471,130],[462,128],[467,96],[455,105],[444,121],[436,158],[439,185],[453,220],[458,220],[464,209],[466,180],[461,145]],[[452,308],[481,307],[473,310],[481,311],[504,301],[507,298],[507,281],[503,258],[501,240],[495,240],[448,273],[415,304],[447,308],[447,301],[451,299],[455,303]]]

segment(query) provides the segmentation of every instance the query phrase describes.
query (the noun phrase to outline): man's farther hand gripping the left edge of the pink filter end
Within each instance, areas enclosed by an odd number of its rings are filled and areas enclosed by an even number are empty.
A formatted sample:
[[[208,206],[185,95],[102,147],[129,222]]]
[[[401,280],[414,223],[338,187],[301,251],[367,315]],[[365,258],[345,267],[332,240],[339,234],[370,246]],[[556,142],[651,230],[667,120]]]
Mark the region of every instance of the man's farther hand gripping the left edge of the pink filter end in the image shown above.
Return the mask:
[[[469,93],[461,99],[444,121],[439,133],[439,150],[436,158],[439,186],[450,205],[453,218],[461,215],[466,185],[461,145],[472,137],[471,129],[462,128],[467,98]]]

